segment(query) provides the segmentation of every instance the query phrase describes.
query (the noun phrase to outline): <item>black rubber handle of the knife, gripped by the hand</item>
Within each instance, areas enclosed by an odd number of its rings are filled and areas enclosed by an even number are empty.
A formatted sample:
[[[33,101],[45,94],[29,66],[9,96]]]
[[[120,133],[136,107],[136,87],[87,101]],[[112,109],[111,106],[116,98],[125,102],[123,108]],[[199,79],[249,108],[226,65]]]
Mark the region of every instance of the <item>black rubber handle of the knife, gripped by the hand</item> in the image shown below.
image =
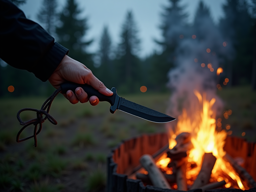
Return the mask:
[[[83,88],[83,90],[88,94],[88,97],[90,98],[91,96],[95,95],[96,97],[99,98],[100,101],[107,101],[112,105],[115,103],[115,97],[116,93],[114,92],[113,95],[111,96],[106,96],[101,94],[98,90],[94,89],[92,86],[88,84],[78,84],[78,83],[72,83],[72,82],[67,82],[67,83],[62,83],[60,85],[62,93],[66,93],[68,90],[71,90],[75,93],[75,89],[77,87]]]

